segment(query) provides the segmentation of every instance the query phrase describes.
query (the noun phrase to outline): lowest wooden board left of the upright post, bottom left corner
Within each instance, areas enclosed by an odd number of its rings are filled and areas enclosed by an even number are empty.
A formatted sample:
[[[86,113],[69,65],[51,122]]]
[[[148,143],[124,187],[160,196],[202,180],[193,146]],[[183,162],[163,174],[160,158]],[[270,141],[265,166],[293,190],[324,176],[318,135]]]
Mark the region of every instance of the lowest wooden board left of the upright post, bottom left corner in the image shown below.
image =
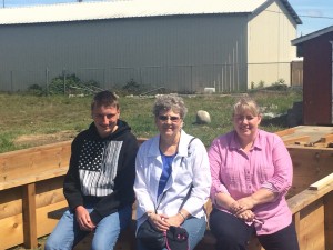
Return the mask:
[[[22,214],[0,220],[0,249],[23,243]]]

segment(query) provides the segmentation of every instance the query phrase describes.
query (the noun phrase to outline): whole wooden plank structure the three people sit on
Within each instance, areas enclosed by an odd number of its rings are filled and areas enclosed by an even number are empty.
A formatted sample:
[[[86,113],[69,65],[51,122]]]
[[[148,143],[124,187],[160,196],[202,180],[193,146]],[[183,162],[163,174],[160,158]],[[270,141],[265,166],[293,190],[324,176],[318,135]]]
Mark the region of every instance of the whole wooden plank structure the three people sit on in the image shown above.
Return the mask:
[[[143,140],[139,139],[139,144]],[[68,170],[71,141],[0,153],[0,249],[17,244],[37,248],[38,238],[49,234],[58,222],[57,211],[65,208],[62,183]],[[309,186],[333,172],[333,149],[287,144],[294,166],[287,202],[293,212],[301,250],[333,249],[332,181]],[[209,204],[208,204],[209,206]],[[134,249],[132,227],[125,230],[117,249]],[[6,240],[2,240],[6,239]],[[198,250],[213,248],[209,229]],[[89,238],[75,250],[89,249]],[[261,249],[252,239],[249,250]]]

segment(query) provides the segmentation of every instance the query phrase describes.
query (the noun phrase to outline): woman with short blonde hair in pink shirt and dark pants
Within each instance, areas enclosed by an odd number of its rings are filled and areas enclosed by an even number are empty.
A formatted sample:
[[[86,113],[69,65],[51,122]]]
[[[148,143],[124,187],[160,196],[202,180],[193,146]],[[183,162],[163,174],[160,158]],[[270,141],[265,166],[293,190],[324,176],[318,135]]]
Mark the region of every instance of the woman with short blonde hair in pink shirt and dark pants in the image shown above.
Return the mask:
[[[216,249],[246,249],[256,233],[266,250],[299,250],[285,200],[293,166],[283,141],[258,128],[261,113],[251,99],[234,104],[232,121],[234,130],[218,137],[209,149],[210,228]]]

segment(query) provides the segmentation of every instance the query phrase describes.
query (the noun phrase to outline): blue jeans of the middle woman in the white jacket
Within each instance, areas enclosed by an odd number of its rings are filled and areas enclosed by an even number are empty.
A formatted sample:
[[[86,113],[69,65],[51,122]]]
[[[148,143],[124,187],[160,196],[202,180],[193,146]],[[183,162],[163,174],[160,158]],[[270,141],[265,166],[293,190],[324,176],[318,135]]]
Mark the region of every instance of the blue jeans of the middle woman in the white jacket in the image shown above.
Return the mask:
[[[186,229],[189,233],[189,244],[190,248],[189,250],[193,250],[195,246],[199,243],[199,241],[203,238],[205,229],[206,229],[206,222],[205,218],[202,217],[200,219],[191,217],[185,220],[185,222],[181,226],[182,228]],[[138,240],[138,250],[151,250],[145,248],[144,246],[141,244],[141,242]],[[164,248],[163,250],[167,250]]]

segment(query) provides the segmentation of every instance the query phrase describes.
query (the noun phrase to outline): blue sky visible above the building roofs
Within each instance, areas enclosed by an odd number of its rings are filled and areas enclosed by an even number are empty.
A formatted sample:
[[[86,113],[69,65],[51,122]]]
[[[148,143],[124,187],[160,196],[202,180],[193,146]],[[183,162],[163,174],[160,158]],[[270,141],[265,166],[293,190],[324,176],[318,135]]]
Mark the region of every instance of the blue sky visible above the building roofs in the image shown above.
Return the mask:
[[[78,0],[0,0],[1,8],[75,2]],[[88,0],[82,0],[88,1]],[[98,1],[98,0],[89,0]],[[203,0],[204,1],[204,0]],[[333,26],[333,0],[289,0],[301,18],[303,24],[297,26],[297,37]]]

